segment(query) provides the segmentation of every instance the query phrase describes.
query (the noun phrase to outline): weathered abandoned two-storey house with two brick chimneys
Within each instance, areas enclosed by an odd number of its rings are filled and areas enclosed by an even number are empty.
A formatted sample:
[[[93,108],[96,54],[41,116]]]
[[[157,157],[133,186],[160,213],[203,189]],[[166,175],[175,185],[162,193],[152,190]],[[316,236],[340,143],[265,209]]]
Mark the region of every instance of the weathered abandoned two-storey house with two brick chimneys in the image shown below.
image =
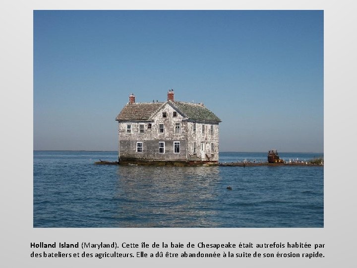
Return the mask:
[[[119,122],[119,162],[218,162],[221,120],[202,103],[135,102],[134,94],[116,118]],[[202,162],[204,161],[204,162]]]

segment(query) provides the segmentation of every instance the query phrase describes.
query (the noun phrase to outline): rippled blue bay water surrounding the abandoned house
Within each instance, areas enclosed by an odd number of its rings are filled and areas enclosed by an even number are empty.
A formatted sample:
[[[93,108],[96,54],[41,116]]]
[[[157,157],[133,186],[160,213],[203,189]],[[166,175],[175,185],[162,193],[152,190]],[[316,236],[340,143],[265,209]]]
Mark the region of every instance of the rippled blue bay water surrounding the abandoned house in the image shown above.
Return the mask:
[[[321,154],[279,153],[312,159]],[[220,153],[220,162],[267,153]],[[322,166],[95,165],[117,152],[34,151],[34,227],[323,227]],[[232,190],[227,190],[231,186]]]

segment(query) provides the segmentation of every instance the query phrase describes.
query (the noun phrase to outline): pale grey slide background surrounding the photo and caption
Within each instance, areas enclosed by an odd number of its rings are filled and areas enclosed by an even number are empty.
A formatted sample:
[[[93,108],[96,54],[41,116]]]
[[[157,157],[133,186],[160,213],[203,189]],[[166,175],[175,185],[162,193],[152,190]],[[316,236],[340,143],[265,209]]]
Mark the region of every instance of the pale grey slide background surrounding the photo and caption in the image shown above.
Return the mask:
[[[356,266],[356,13],[353,1],[21,1],[1,3],[2,267],[357,267]],[[331,2],[335,2],[332,4]],[[324,228],[33,228],[34,9],[323,9]],[[320,259],[35,259],[31,242],[324,243]],[[125,252],[123,250],[119,250]],[[157,252],[158,250],[153,250]],[[165,252],[163,249],[160,251]],[[197,252],[193,250],[192,252]],[[55,251],[56,252],[56,251]],[[62,251],[65,252],[65,251]],[[82,250],[79,251],[80,253]],[[136,252],[136,250],[131,251]],[[202,252],[202,250],[201,250]],[[210,250],[209,252],[213,252]],[[227,251],[226,251],[227,252]],[[241,252],[241,250],[236,250]],[[276,253],[276,249],[271,251]],[[303,251],[300,251],[303,252]]]

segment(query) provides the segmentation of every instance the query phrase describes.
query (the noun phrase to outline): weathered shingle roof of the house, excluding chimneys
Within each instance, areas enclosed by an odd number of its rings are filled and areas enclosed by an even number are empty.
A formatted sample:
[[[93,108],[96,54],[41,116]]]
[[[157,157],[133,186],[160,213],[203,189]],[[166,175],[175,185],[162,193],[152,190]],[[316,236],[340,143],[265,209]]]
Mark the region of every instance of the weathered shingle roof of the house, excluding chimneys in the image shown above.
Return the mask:
[[[214,113],[207,109],[203,104],[166,101],[152,103],[127,103],[117,116],[117,121],[130,120],[150,120],[167,103],[172,104],[184,117],[209,122],[222,122]]]

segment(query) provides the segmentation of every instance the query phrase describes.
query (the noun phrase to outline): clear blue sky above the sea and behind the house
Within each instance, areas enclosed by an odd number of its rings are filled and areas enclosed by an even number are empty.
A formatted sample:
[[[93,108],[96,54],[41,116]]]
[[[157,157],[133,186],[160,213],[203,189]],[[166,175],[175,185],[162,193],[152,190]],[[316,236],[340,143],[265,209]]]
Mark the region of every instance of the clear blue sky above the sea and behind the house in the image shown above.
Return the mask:
[[[203,102],[220,151],[323,152],[323,11],[34,11],[34,150],[117,150],[128,102]]]

